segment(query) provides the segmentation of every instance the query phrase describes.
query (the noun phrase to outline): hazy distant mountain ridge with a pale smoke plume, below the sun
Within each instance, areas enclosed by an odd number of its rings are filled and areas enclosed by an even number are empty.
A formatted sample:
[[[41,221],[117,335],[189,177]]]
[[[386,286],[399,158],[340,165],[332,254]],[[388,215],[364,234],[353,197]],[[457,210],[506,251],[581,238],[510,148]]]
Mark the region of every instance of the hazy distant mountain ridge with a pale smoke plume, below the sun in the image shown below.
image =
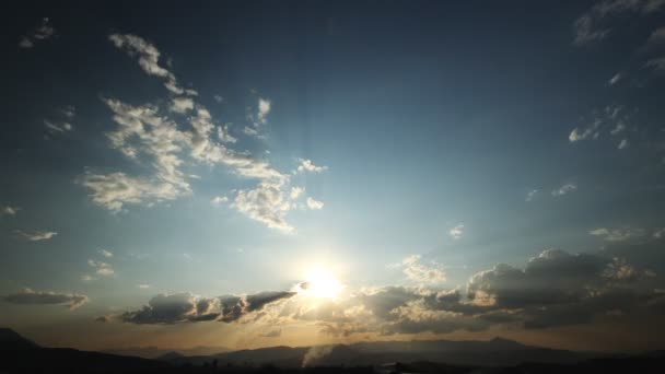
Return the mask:
[[[220,365],[255,367],[266,364],[299,367],[303,362],[311,366],[372,366],[396,361],[454,365],[518,365],[525,362],[576,363],[603,354],[529,347],[497,338],[489,341],[415,340],[328,347],[271,347],[168,361],[202,364],[218,360]]]

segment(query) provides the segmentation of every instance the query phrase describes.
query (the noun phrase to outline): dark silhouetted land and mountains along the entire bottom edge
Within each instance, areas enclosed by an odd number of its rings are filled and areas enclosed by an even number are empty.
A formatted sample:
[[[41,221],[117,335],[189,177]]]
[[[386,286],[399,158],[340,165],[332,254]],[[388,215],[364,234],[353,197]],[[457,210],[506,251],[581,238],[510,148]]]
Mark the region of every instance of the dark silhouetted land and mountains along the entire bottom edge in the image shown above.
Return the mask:
[[[143,359],[42,348],[10,329],[0,329],[2,373],[665,373],[665,352],[607,355],[495,339],[273,347],[199,357],[171,352]]]

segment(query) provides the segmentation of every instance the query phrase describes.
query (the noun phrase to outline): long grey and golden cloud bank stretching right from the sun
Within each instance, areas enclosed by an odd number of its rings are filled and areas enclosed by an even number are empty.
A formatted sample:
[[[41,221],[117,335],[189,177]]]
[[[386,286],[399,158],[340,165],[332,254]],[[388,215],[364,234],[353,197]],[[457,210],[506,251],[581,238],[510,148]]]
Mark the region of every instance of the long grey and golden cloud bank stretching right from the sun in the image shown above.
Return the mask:
[[[410,257],[407,262],[418,260]],[[316,306],[294,297],[276,322],[315,322],[323,331],[341,336],[587,324],[610,312],[630,315],[650,308],[658,294],[644,287],[649,277],[621,258],[549,249],[525,268],[500,264],[474,274],[466,292],[423,285],[366,288]]]

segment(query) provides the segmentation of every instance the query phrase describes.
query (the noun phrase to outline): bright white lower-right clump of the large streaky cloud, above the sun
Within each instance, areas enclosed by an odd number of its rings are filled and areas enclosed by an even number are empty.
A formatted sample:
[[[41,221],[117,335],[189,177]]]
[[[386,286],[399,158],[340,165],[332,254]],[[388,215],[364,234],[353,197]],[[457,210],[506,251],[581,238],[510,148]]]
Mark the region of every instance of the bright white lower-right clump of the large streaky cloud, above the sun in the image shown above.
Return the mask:
[[[233,207],[253,220],[265,223],[268,227],[292,232],[284,219],[292,206],[287,199],[281,184],[260,183],[254,189],[237,191]]]

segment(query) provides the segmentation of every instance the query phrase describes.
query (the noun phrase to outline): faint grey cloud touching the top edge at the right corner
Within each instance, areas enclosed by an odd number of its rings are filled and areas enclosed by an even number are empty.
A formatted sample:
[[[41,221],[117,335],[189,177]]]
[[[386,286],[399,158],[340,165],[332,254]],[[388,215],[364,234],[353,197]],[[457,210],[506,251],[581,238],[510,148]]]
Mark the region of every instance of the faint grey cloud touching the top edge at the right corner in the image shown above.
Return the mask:
[[[574,44],[586,45],[602,40],[611,32],[612,17],[623,14],[649,15],[665,5],[663,0],[604,0],[592,7],[573,23]]]

